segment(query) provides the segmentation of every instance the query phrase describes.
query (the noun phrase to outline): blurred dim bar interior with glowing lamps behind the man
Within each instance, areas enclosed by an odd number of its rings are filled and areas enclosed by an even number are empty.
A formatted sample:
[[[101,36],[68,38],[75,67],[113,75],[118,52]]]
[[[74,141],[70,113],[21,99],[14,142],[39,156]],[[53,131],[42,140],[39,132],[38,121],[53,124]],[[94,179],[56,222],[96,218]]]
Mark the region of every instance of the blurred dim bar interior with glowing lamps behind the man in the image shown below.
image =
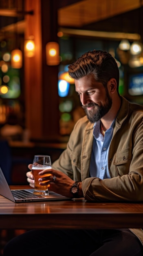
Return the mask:
[[[34,154],[57,159],[85,115],[67,74],[81,54],[110,52],[120,94],[143,104],[142,43],[143,0],[0,0],[0,137],[11,183],[26,182]]]

